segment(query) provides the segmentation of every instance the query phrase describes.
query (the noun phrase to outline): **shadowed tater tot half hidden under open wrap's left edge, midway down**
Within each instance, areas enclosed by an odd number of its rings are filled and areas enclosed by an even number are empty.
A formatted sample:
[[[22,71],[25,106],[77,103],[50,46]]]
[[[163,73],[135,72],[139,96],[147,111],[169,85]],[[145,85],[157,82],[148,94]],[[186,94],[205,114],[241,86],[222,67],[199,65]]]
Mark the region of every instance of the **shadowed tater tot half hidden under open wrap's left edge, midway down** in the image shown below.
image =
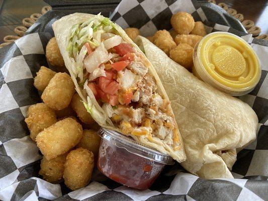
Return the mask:
[[[92,124],[94,123],[94,119],[91,117],[90,113],[88,113],[81,102],[81,97],[78,93],[74,93],[71,99],[71,107],[76,112],[79,120],[85,124]]]

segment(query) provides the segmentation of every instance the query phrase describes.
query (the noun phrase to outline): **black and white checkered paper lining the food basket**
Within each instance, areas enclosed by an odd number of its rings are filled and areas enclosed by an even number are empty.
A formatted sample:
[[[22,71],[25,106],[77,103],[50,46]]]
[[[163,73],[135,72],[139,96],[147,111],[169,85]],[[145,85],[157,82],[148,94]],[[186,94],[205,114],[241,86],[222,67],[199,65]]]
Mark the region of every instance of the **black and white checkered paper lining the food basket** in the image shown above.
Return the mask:
[[[148,190],[118,184],[97,170],[84,188],[70,191],[63,183],[52,184],[38,175],[41,155],[24,122],[30,105],[41,102],[33,86],[40,66],[48,66],[45,47],[49,33],[32,33],[0,50],[0,200],[268,200],[268,44],[227,26],[208,22],[196,1],[123,0],[112,20],[137,27],[142,35],[170,29],[169,19],[178,11],[203,21],[207,31],[226,31],[241,36],[256,51],[261,79],[240,98],[256,112],[256,140],[240,151],[232,173],[235,179],[205,180],[176,164],[164,169]]]

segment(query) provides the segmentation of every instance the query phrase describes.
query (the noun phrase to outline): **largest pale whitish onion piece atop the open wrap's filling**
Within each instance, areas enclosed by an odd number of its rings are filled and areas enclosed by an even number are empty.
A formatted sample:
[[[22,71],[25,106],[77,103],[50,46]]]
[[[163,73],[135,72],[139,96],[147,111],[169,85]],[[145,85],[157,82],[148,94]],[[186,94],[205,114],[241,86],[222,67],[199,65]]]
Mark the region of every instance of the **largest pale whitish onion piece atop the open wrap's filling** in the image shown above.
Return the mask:
[[[84,59],[83,65],[87,72],[92,73],[102,63],[106,63],[111,58],[112,53],[108,53],[104,44],[101,43],[100,46],[96,48],[93,53],[91,53]]]

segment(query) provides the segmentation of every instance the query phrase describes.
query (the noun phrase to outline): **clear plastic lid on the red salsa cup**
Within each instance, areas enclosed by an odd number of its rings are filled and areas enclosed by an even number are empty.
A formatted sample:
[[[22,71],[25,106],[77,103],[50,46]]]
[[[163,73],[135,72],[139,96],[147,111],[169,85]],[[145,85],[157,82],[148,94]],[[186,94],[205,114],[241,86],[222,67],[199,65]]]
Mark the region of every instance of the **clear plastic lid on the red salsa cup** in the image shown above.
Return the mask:
[[[119,148],[126,149],[128,152],[133,153],[135,155],[167,165],[174,164],[172,157],[166,154],[162,154],[157,150],[155,150],[154,148],[143,145],[142,143],[138,143],[131,137],[122,135],[118,132],[108,130],[105,128],[101,128],[98,131],[98,134],[103,139],[110,141],[110,143],[112,143],[113,145]]]

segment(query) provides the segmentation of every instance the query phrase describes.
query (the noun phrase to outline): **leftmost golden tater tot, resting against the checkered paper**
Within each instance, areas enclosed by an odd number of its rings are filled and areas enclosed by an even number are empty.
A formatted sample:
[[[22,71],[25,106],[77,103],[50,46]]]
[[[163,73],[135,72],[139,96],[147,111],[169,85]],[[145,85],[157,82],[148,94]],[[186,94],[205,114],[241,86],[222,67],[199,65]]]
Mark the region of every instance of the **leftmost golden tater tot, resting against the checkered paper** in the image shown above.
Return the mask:
[[[44,103],[30,106],[27,112],[25,122],[30,130],[30,137],[35,141],[36,136],[44,129],[57,122],[54,110]]]

